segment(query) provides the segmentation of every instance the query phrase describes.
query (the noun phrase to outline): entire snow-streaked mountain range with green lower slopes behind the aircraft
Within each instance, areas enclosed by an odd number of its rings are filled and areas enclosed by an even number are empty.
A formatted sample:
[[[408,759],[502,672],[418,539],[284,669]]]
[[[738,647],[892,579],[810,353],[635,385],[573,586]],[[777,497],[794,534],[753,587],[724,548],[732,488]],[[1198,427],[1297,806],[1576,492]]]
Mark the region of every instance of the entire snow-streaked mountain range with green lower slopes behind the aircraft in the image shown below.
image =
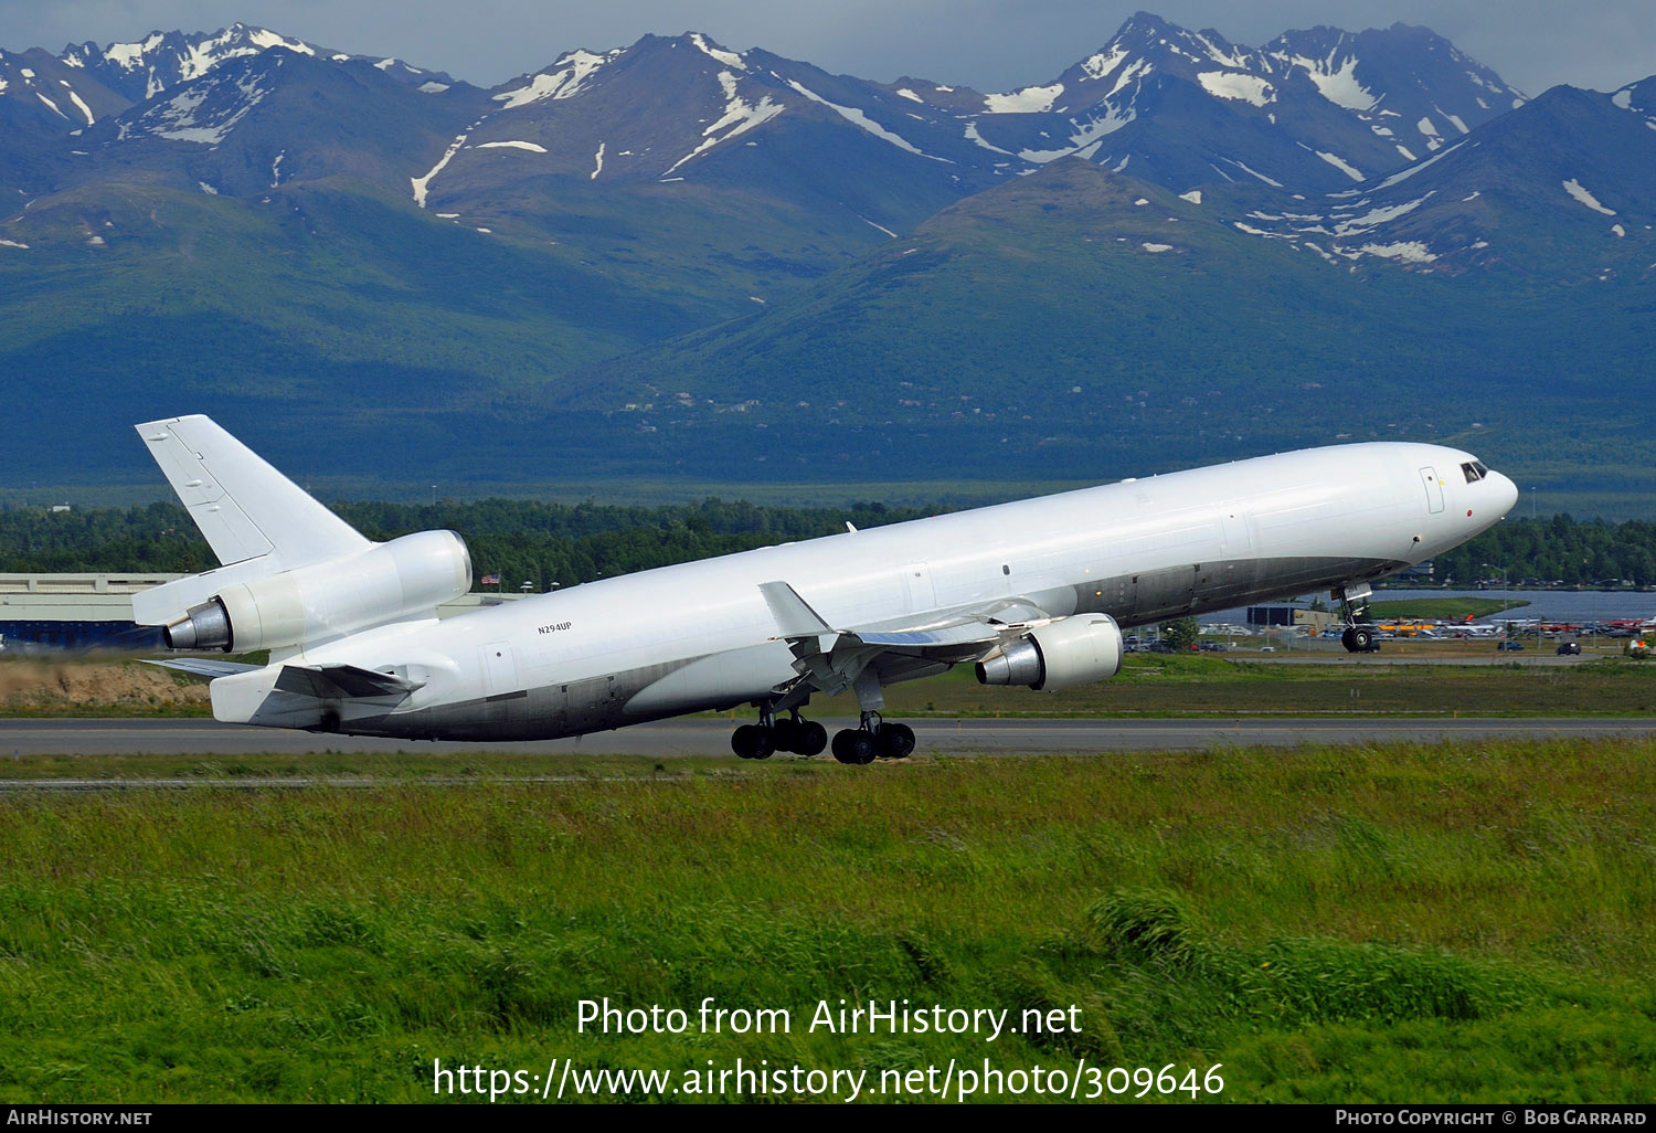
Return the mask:
[[[520,439],[497,467],[551,436],[611,467],[647,431],[674,474],[898,422],[893,459],[1060,437],[1042,467],[1073,475],[1100,419],[1326,441],[1437,412],[1444,366],[1479,374],[1467,427],[1577,356],[1644,393],[1656,80],[1527,101],[1423,28],[1255,48],[1143,13],[1002,93],[699,33],[548,58],[480,89],[240,25],[0,53],[17,416],[113,436],[184,391],[349,419],[364,459]]]

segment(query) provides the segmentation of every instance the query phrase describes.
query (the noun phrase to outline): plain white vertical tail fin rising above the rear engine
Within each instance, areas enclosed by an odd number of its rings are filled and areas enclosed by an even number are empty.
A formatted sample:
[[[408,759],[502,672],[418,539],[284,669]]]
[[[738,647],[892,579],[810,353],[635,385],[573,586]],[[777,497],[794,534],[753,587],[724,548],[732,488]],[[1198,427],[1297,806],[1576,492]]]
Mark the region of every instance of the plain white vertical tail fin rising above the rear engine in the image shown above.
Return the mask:
[[[230,581],[373,547],[210,417],[167,417],[136,429],[224,563],[207,575],[134,595],[132,613],[139,624],[167,624]]]

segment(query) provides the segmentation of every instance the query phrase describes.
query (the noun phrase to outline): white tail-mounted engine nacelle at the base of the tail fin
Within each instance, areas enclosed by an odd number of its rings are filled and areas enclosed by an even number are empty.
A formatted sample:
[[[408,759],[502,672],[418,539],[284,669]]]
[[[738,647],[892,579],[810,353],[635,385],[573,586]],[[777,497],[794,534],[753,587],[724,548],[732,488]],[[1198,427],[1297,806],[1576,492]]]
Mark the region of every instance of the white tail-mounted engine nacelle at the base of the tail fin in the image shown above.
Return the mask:
[[[419,532],[358,555],[225,586],[164,633],[172,649],[280,649],[434,611],[472,588],[454,532]]]

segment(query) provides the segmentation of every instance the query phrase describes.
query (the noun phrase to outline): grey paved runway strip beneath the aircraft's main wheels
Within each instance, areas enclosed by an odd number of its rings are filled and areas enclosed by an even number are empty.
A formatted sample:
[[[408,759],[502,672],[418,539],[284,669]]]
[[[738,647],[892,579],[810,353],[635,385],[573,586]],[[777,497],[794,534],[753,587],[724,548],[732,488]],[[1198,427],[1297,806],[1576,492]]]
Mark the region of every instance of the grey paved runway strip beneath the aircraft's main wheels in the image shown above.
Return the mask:
[[[747,719],[747,717],[742,717]],[[1037,755],[1204,750],[1209,747],[1434,742],[1489,735],[1643,737],[1656,719],[1543,717],[1272,717],[1272,719],[911,719],[919,754]],[[823,719],[830,732],[851,721]],[[681,719],[581,739],[455,744],[325,735],[217,721],[0,721],[0,759],[15,755],[248,755],[277,752],[585,752],[604,755],[729,755],[732,722]],[[823,755],[821,759],[830,759]]]

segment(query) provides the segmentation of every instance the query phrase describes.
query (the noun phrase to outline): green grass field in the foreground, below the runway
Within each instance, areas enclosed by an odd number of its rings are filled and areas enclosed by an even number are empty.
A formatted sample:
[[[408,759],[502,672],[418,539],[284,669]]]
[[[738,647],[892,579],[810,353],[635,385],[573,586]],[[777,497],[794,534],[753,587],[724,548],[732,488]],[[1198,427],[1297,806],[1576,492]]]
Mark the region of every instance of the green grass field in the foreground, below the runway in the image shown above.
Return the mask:
[[[1656,744],[734,764],[8,797],[0,1100],[424,1100],[434,1058],[739,1057],[1656,1100]],[[604,996],[793,1027],[578,1034]],[[1075,1005],[1080,1032],[806,1032],[841,997]]]

